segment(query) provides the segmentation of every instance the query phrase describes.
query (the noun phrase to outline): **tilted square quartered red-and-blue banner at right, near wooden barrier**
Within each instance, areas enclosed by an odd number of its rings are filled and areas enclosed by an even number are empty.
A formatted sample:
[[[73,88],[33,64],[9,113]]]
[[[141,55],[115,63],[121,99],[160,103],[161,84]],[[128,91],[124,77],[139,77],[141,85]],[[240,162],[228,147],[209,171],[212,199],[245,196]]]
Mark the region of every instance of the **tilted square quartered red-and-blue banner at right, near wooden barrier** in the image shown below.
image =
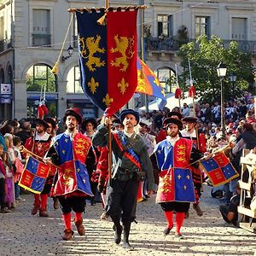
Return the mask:
[[[201,170],[206,172],[212,181],[212,185],[217,187],[239,176],[230,160],[223,152],[220,152],[208,160],[200,162]]]

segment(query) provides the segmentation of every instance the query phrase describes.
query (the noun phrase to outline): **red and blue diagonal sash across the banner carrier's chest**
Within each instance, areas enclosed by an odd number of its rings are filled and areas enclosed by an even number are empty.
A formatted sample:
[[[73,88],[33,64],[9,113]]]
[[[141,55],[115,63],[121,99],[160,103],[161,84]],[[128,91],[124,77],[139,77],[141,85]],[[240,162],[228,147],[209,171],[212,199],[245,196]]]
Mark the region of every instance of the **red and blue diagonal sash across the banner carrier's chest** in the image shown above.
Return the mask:
[[[133,164],[135,164],[140,170],[142,170],[142,164],[139,160],[137,154],[132,150],[132,148],[128,148],[125,137],[120,136],[119,133],[113,133],[113,139],[119,146],[120,150],[125,154],[125,157],[131,160]],[[127,147],[128,146],[128,147]]]

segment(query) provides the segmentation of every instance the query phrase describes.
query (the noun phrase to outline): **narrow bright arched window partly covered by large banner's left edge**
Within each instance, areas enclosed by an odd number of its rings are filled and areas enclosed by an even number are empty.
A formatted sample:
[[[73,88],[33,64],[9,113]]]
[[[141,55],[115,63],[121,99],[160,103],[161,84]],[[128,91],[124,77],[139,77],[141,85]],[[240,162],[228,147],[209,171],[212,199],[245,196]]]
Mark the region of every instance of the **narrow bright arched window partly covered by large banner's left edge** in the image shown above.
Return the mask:
[[[67,74],[67,93],[83,93],[79,66],[73,67]]]

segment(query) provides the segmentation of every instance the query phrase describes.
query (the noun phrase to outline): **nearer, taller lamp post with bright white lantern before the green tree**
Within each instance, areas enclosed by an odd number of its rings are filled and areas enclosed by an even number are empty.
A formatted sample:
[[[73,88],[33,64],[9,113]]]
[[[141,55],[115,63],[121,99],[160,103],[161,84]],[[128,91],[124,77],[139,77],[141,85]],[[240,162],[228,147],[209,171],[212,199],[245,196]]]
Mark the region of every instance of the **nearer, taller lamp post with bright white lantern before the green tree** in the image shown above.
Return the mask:
[[[224,77],[227,73],[227,67],[224,63],[220,62],[217,67],[218,77],[220,79],[220,115],[221,115],[221,128],[222,128],[222,137],[225,138],[225,118],[224,118],[224,91],[223,83]]]

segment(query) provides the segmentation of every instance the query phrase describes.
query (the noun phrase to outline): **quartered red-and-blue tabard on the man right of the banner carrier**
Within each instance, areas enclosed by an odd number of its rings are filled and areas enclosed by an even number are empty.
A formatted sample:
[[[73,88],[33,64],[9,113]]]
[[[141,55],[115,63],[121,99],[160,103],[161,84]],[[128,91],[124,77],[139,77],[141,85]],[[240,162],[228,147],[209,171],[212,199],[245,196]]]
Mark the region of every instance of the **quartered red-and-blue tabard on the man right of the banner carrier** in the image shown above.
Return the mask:
[[[156,145],[154,154],[160,170],[156,202],[194,202],[195,190],[189,160],[193,142],[180,138],[174,146],[166,139]]]

